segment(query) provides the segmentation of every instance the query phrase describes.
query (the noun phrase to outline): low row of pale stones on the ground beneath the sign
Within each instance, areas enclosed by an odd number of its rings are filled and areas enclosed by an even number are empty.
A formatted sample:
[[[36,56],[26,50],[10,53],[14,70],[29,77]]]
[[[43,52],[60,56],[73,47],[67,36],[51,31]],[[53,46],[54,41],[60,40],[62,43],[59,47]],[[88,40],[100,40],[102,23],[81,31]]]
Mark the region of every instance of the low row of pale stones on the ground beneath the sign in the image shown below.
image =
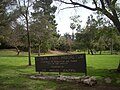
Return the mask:
[[[48,75],[33,75],[30,76],[31,79],[35,80],[55,80],[55,81],[64,81],[72,83],[82,83],[89,86],[94,86],[97,84],[97,79],[90,76],[48,76]]]

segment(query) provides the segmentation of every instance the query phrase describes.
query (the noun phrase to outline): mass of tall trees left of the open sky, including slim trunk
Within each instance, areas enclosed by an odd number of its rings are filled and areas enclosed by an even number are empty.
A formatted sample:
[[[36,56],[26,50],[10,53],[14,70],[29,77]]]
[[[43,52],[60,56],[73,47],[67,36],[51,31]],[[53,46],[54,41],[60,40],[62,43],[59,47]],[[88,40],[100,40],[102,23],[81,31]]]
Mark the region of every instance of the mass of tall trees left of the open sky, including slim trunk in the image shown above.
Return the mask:
[[[26,48],[27,46],[28,65],[31,65],[32,45],[41,42],[43,51],[47,51],[48,48],[54,46],[50,39],[55,41],[59,36],[54,20],[56,7],[51,6],[51,4],[52,0],[0,1],[0,43],[4,42],[15,47],[17,51],[19,51],[18,47]]]

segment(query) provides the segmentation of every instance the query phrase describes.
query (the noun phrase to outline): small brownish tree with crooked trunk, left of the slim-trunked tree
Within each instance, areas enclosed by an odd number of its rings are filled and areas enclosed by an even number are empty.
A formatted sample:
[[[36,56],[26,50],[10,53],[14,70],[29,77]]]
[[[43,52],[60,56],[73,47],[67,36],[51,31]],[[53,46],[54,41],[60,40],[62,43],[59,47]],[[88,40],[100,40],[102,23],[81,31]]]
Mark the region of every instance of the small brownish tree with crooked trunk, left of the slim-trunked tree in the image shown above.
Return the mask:
[[[23,46],[21,38],[23,36],[22,33],[24,29],[23,26],[19,25],[17,22],[12,22],[10,25],[12,27],[7,29],[8,34],[5,40],[8,43],[8,45],[16,48],[17,55],[19,55],[20,50],[18,47]]]

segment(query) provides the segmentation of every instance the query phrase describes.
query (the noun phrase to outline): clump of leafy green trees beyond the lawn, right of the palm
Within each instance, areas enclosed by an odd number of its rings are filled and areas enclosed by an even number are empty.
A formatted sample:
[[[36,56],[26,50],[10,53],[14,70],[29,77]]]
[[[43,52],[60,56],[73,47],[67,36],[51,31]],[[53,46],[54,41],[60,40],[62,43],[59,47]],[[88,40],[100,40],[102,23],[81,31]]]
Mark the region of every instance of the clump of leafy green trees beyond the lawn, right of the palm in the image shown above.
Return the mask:
[[[100,14],[97,14],[96,18],[90,15],[86,27],[76,33],[76,49],[88,49],[88,54],[90,52],[94,54],[97,51],[101,54],[104,50],[110,50],[113,54],[117,37],[115,27],[108,19]]]

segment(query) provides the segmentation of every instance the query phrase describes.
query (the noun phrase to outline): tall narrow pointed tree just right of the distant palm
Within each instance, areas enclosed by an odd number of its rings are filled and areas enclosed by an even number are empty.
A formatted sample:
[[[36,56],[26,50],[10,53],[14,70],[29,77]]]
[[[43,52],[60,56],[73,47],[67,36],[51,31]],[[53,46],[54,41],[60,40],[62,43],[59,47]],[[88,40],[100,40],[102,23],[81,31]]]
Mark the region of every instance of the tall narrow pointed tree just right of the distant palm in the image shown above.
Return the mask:
[[[82,32],[83,37],[84,38],[84,44],[86,44],[87,48],[88,48],[88,53],[89,51],[91,52],[91,54],[93,55],[93,46],[94,46],[94,41],[96,38],[96,20],[93,18],[93,15],[88,16],[88,20],[87,20],[87,25],[84,29],[84,31]]]

